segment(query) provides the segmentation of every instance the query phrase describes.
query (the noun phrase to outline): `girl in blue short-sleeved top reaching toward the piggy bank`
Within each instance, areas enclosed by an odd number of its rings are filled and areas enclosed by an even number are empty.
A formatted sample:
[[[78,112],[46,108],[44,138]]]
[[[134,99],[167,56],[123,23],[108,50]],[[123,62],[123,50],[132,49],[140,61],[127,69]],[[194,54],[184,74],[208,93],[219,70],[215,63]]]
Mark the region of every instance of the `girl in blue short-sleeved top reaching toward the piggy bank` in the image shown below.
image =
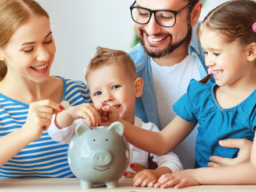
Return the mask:
[[[206,168],[211,155],[236,158],[238,149],[223,148],[225,138],[254,140],[256,125],[256,2],[234,0],[212,10],[198,29],[205,63],[216,83],[191,80],[187,94],[173,105],[177,116],[160,133],[136,129],[115,108],[102,106],[110,121],[119,120],[127,141],[157,155],[172,150],[199,123],[195,168],[162,176],[155,187],[195,184],[255,184],[256,155],[251,163]],[[206,80],[207,81],[207,80]],[[135,134],[136,133],[136,134]],[[141,140],[140,136],[147,140]],[[255,150],[253,144],[253,150]],[[243,177],[239,177],[239,172]],[[136,179],[134,177],[134,179]],[[137,183],[134,183],[136,186]]]

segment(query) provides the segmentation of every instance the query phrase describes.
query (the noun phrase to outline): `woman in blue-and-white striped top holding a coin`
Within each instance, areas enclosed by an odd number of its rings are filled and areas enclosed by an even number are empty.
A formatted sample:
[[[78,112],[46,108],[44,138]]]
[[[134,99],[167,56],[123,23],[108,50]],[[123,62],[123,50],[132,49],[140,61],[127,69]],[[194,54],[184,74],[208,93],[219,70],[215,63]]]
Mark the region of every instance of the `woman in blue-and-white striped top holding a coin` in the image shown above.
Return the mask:
[[[55,51],[49,16],[37,2],[0,1],[0,177],[74,177],[68,145],[46,129],[63,99],[91,99],[81,81],[49,76]]]

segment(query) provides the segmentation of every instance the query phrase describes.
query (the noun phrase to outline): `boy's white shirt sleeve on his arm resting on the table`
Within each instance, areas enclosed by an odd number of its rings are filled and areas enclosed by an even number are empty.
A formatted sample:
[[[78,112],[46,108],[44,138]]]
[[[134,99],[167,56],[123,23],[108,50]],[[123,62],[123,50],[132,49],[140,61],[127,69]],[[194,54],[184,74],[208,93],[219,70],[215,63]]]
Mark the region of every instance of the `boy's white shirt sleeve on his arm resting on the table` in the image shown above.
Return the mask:
[[[149,123],[147,123],[149,124]],[[159,132],[159,129],[154,123],[150,123],[151,127],[149,130]],[[150,154],[150,156],[153,158],[152,160],[157,163],[158,168],[165,166],[172,170],[172,172],[176,172],[178,170],[182,170],[182,163],[180,162],[179,157],[173,152],[170,151],[166,153],[165,155],[155,155],[155,154]]]

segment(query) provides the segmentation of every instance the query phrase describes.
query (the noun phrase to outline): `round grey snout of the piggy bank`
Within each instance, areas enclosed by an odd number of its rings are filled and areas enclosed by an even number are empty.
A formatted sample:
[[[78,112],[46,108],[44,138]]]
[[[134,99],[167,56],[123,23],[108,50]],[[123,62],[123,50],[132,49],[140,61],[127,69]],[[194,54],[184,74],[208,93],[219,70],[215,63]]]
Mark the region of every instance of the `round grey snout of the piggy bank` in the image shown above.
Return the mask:
[[[111,163],[112,155],[109,151],[96,151],[92,154],[94,165],[105,166]]]

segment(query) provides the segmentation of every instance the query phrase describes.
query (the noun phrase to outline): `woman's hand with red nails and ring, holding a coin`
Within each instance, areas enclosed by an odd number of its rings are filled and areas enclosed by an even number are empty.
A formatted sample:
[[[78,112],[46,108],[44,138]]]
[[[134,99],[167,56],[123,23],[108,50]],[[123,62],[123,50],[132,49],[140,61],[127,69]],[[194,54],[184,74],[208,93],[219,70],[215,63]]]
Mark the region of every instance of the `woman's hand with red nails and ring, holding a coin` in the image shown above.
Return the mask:
[[[21,130],[25,131],[31,141],[37,140],[42,136],[42,131],[51,125],[52,115],[63,110],[63,106],[49,100],[32,102],[29,105],[26,123]]]

